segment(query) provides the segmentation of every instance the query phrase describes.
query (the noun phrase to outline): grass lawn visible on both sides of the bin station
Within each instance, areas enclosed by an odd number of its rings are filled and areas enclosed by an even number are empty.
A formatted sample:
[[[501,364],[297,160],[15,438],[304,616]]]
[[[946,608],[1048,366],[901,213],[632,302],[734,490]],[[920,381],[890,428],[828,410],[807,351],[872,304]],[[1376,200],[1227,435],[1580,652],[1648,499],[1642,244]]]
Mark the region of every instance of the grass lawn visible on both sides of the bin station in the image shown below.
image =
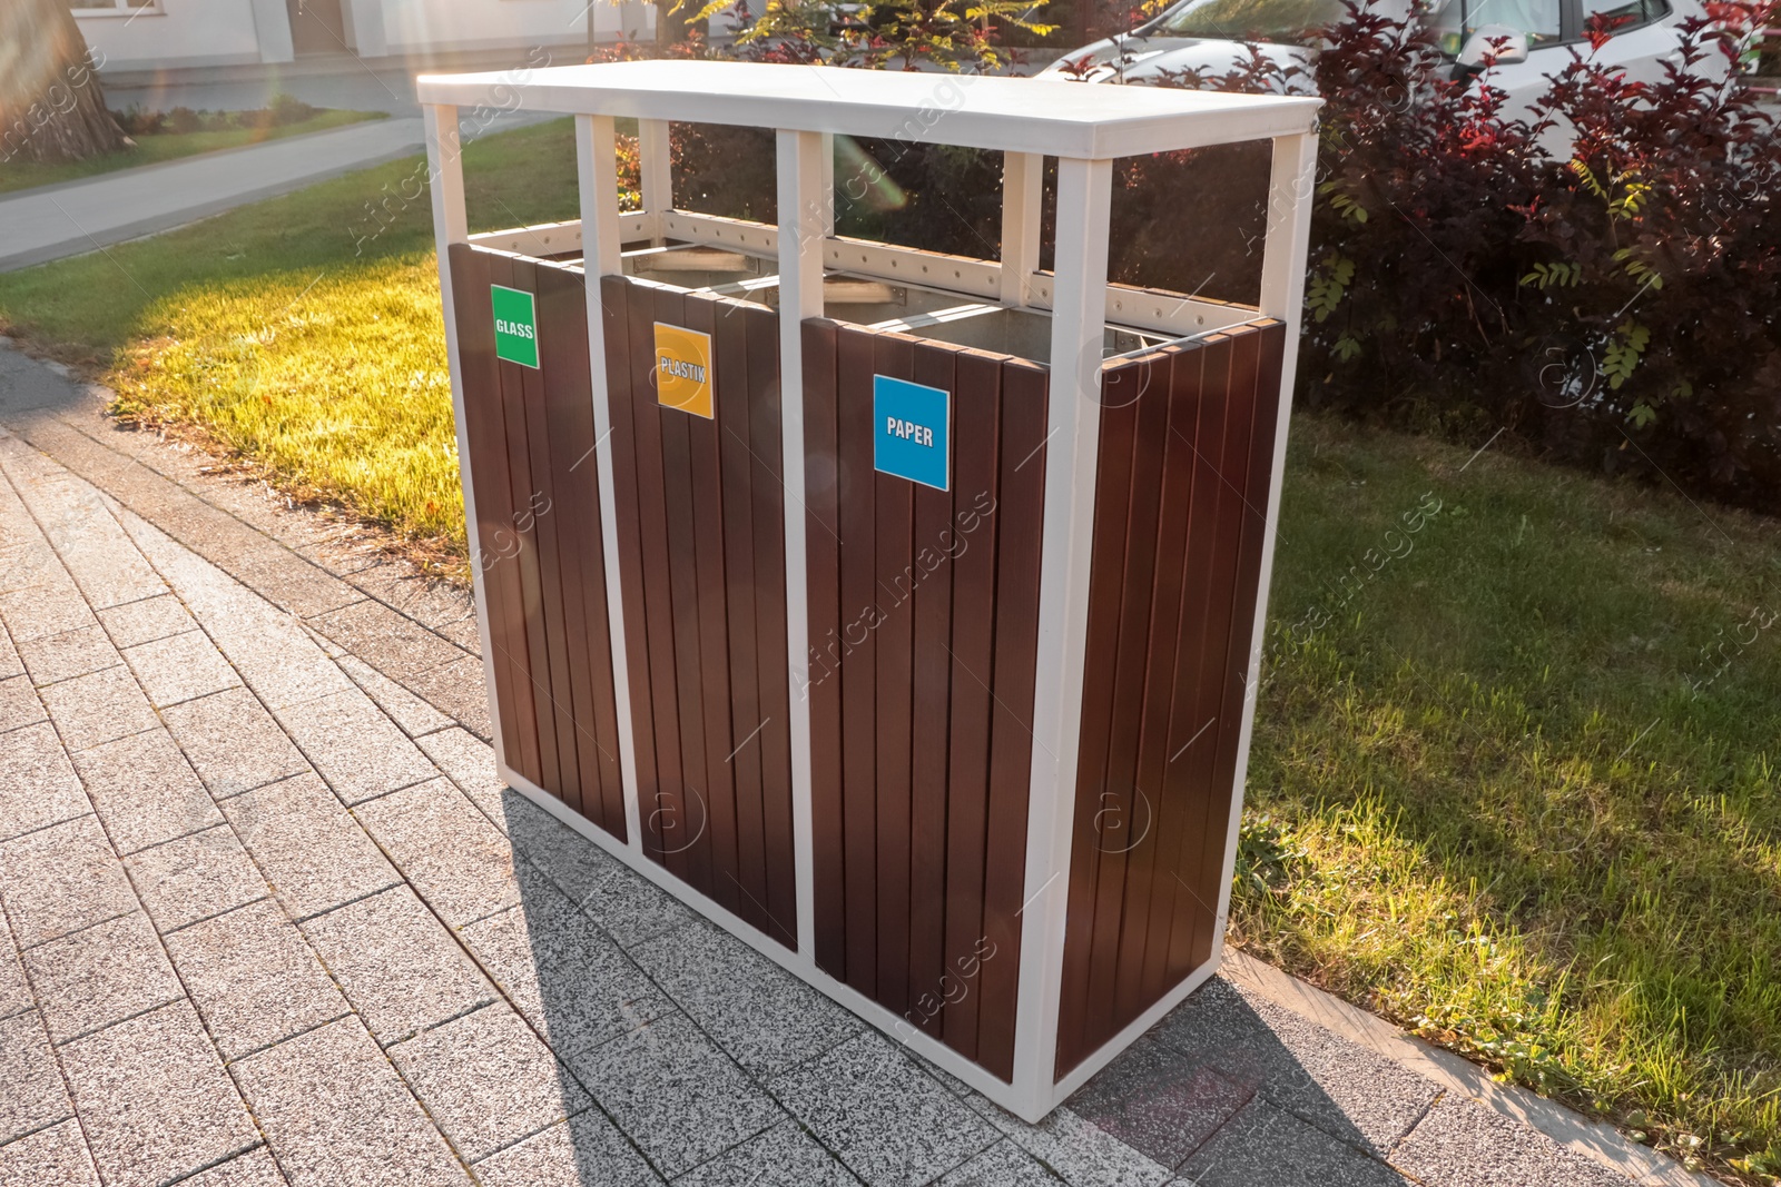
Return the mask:
[[[573,217],[566,125],[479,141],[467,171],[474,226]],[[422,174],[0,276],[0,320],[109,368],[125,411],[198,422],[461,559],[431,214],[401,198]],[[1386,532],[1419,505],[1403,552]],[[1398,555],[1375,571],[1368,550]],[[1300,416],[1236,936],[1772,1182],[1777,591],[1777,521]]]

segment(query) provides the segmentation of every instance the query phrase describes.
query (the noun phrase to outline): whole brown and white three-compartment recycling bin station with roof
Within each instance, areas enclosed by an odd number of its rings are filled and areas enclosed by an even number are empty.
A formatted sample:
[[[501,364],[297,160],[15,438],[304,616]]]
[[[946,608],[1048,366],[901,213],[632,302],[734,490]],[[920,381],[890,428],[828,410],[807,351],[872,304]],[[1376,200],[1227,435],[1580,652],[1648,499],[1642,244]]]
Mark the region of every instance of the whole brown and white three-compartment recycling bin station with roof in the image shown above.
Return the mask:
[[[1045,1116],[1224,947],[1320,101],[695,61],[419,93],[502,776]],[[581,219],[472,235],[459,112],[515,105],[575,116]],[[773,132],[777,224],[675,208],[675,121]],[[835,135],[999,153],[999,258],[835,235]],[[1115,160],[1248,141],[1259,303],[1110,285]]]

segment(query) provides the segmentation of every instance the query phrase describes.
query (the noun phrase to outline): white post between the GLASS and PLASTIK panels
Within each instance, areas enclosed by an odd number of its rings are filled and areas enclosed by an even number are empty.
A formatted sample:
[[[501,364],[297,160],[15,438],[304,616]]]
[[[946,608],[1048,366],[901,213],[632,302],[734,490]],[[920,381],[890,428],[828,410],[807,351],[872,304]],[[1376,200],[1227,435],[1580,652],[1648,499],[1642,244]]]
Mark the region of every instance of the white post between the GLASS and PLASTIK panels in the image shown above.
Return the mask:
[[[618,142],[611,116],[575,116],[575,171],[581,182],[581,269],[588,288],[588,375],[593,395],[595,475],[600,484],[600,545],[606,553],[606,626],[613,648],[613,703],[618,717],[618,778],[625,790],[625,844],[643,852],[638,808],[638,755],[630,733],[630,660],[625,655],[623,582],[618,578],[618,495],[613,486],[613,406],[606,392],[606,317],[600,278],[618,272]]]

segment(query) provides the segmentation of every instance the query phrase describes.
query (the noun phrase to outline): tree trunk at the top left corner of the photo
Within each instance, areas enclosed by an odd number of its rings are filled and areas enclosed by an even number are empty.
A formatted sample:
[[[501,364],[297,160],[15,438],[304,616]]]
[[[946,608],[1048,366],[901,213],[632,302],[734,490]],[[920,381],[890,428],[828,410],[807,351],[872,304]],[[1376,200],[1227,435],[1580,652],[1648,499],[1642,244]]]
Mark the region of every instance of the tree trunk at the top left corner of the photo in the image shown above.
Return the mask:
[[[85,160],[125,148],[100,66],[66,0],[0,0],[0,162]]]

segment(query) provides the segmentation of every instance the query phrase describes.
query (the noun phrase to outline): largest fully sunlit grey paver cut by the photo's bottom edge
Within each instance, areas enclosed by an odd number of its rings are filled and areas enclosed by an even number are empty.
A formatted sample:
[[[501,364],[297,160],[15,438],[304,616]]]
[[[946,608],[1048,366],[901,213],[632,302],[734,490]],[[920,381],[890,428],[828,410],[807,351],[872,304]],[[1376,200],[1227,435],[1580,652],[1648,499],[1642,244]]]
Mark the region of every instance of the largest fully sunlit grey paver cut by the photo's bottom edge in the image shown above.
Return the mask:
[[[461,1187],[468,1176],[356,1018],[235,1064],[292,1187]]]

